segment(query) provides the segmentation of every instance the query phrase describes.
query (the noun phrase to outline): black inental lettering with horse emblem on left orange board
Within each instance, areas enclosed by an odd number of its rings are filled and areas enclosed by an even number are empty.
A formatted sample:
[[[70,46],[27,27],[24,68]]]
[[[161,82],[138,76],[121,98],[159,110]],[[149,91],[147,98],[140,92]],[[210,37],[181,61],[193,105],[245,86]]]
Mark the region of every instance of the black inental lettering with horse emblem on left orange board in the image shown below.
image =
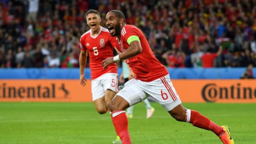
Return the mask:
[[[69,91],[65,84],[11,86],[5,82],[0,84],[0,99],[7,98],[68,98]]]

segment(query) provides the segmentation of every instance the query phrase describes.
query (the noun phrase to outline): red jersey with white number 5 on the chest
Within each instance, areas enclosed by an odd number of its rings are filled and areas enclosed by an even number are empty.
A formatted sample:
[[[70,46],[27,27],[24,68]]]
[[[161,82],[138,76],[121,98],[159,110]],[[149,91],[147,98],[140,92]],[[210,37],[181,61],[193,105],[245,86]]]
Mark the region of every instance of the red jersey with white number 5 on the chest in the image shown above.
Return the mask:
[[[116,37],[111,37],[107,28],[101,27],[100,32],[95,37],[91,35],[91,30],[81,36],[80,48],[89,52],[92,80],[105,73],[117,73],[116,63],[108,65],[105,70],[101,66],[104,59],[114,57],[114,47],[116,47]]]

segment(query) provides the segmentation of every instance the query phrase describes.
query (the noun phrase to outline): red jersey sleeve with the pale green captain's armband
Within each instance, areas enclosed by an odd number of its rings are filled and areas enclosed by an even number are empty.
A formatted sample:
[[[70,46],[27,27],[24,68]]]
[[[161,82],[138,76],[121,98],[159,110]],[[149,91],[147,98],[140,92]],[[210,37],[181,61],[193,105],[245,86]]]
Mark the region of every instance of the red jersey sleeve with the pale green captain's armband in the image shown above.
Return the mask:
[[[126,42],[130,45],[132,41],[140,41],[138,30],[135,27],[128,27],[122,29],[122,34]]]

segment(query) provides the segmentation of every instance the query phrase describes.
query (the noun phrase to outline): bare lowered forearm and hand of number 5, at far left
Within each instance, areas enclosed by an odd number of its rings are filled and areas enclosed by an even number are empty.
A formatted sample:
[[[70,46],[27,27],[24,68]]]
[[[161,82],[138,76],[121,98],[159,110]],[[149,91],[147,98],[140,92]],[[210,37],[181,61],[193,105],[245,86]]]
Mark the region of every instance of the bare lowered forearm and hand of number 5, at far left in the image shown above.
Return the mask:
[[[84,75],[86,62],[87,62],[87,50],[86,51],[81,50],[79,55],[79,65],[80,65],[80,85],[82,86],[86,85],[86,79]]]

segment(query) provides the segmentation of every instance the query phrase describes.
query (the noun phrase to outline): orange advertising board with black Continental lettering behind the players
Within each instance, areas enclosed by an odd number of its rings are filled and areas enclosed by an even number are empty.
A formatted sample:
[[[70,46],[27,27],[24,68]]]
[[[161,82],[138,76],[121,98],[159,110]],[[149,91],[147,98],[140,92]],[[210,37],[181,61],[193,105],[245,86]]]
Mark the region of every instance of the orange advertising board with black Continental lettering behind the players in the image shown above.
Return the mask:
[[[172,80],[182,102],[256,103],[256,80]],[[160,92],[160,91],[159,91]],[[165,98],[170,95],[164,95]],[[91,80],[0,80],[0,101],[92,102]]]

